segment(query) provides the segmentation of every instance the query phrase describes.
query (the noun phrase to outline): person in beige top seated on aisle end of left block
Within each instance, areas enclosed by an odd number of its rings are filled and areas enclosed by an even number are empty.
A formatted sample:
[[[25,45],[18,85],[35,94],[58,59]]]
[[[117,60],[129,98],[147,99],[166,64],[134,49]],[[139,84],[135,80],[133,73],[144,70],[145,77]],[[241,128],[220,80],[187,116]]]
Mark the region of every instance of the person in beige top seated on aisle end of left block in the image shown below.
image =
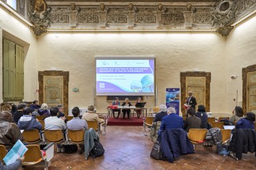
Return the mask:
[[[86,120],[86,121],[95,121],[96,120],[98,123],[100,123],[101,132],[104,133],[102,124],[104,124],[105,121],[103,119],[99,118],[98,114],[95,113],[93,105],[88,106],[87,112],[83,114],[82,119]]]

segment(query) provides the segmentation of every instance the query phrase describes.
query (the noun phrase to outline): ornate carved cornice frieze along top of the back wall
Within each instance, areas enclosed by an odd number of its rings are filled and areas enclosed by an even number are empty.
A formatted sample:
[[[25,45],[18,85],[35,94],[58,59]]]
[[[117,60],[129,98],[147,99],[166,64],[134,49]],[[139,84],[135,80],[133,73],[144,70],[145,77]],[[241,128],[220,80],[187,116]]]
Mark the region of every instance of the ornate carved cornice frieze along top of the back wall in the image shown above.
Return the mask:
[[[35,35],[64,29],[216,30],[227,36],[255,9],[256,0],[29,0],[28,19]]]

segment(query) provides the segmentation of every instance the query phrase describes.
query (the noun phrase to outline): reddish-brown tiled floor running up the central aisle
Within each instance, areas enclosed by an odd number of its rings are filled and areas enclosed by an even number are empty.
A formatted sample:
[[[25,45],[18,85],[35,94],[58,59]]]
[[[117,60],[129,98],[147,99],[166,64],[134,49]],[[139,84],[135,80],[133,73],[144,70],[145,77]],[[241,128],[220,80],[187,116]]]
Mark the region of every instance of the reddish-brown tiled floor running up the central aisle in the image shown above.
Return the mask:
[[[143,135],[142,126],[107,126],[100,136],[104,156],[96,159],[77,153],[57,154],[50,169],[256,169],[255,154],[243,154],[242,160],[216,154],[216,147],[195,146],[195,154],[181,156],[174,163],[150,157],[153,143]],[[55,148],[56,150],[56,148]],[[43,169],[43,165],[25,169]]]

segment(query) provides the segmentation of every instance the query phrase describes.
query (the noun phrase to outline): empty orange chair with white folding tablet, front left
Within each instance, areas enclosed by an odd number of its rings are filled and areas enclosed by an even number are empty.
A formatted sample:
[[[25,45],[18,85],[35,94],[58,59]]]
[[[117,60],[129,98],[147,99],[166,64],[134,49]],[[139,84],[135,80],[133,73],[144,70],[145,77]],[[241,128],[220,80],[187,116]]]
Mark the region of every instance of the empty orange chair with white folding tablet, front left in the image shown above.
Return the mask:
[[[41,152],[40,147],[37,145],[26,147],[28,150],[25,153],[25,159],[22,165],[35,165],[44,160],[44,169],[48,169],[54,155],[54,143],[49,143],[46,147],[44,147],[43,151],[45,152],[45,155]]]

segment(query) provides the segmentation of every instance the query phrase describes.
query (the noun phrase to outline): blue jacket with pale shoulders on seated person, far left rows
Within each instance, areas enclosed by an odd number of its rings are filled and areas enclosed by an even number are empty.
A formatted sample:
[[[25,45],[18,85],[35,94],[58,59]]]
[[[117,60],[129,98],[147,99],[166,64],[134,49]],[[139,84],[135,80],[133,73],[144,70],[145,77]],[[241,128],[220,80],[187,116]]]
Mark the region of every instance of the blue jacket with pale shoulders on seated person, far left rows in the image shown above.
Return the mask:
[[[20,130],[38,129],[38,131],[40,131],[42,129],[42,124],[36,121],[32,116],[24,115],[18,120],[18,128]]]

